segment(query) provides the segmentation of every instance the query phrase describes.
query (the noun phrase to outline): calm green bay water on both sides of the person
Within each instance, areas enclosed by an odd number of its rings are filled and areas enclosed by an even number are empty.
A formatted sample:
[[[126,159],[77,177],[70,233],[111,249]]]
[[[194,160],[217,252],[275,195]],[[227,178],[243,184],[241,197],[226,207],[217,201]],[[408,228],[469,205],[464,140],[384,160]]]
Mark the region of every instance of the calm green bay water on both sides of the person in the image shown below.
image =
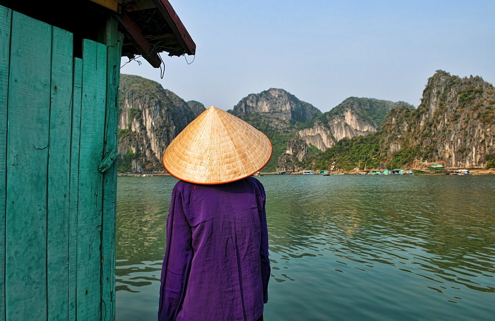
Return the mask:
[[[265,320],[495,320],[495,176],[258,179]],[[117,320],[156,320],[176,182],[118,178]]]

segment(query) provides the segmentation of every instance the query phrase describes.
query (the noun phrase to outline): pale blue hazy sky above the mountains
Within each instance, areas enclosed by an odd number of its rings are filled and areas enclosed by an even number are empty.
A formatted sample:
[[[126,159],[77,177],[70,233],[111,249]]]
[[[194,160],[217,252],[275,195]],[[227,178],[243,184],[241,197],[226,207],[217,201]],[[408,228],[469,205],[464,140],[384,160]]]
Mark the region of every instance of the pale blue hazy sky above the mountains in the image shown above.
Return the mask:
[[[495,0],[169,0],[196,56],[122,73],[230,109],[282,88],[325,112],[348,97],[418,106],[437,69],[495,82]],[[128,61],[122,59],[122,64]]]

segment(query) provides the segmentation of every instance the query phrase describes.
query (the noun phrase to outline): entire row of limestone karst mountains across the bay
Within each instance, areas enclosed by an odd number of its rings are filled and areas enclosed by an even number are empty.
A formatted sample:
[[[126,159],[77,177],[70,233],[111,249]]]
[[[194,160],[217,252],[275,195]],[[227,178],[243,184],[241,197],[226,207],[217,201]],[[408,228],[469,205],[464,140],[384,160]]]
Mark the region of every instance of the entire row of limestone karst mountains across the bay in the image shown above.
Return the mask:
[[[119,170],[163,171],[161,154],[204,106],[158,83],[121,75]],[[481,77],[438,70],[418,108],[350,97],[322,113],[283,89],[249,94],[232,110],[264,132],[273,156],[263,171],[348,169],[445,160],[448,167],[495,167],[495,91]]]

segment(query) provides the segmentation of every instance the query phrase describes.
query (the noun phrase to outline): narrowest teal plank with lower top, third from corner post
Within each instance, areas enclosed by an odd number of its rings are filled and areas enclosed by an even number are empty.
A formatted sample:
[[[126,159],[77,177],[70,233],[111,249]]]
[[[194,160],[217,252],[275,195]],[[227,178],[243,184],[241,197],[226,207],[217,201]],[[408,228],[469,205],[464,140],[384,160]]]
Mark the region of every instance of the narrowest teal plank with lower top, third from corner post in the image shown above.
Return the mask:
[[[81,134],[81,91],[83,61],[74,58],[74,89],[72,98],[72,132],[70,144],[70,200],[69,200],[69,317],[76,320],[77,280],[77,208],[79,194],[79,137]]]

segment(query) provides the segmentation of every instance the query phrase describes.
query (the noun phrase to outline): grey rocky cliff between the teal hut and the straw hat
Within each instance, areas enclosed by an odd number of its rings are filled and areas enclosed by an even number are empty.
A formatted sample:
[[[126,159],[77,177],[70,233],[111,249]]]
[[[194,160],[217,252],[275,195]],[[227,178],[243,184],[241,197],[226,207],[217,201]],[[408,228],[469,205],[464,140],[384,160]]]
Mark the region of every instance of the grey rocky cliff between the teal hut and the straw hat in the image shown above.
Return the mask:
[[[163,151],[204,106],[133,75],[120,76],[119,95],[119,171],[163,171]]]

